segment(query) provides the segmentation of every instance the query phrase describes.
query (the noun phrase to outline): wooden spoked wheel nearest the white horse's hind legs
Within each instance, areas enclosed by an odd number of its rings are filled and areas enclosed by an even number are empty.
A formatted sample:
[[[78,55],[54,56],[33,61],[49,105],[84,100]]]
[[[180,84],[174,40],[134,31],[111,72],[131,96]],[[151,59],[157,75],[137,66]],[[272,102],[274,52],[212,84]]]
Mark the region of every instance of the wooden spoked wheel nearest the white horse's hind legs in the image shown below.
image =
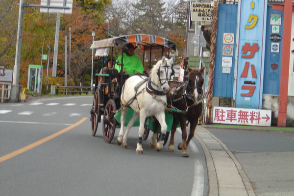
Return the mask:
[[[116,111],[116,104],[113,99],[107,101],[103,113],[103,137],[105,142],[110,143],[113,139],[116,120],[114,114]]]

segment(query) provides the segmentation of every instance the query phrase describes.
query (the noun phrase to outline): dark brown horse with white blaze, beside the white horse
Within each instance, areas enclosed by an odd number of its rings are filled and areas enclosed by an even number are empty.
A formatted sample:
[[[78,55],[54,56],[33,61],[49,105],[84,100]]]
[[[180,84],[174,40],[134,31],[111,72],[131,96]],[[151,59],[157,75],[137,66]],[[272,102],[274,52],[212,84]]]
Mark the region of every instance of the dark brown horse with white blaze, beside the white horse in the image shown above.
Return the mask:
[[[177,108],[177,112],[173,112],[172,134],[168,150],[174,151],[174,133],[177,125],[180,123],[182,129],[183,143],[179,144],[178,149],[182,149],[182,156],[189,157],[187,147],[193,138],[198,123],[198,118],[202,113],[203,100],[203,82],[201,76],[205,68],[189,68],[189,73],[184,77],[184,82],[170,82],[171,92],[168,94],[168,105]],[[186,123],[190,123],[190,133],[187,139]],[[158,123],[155,123],[157,126]],[[157,130],[155,128],[155,130]],[[156,134],[156,132],[154,133]],[[154,137],[154,135],[153,135]],[[152,137],[152,138],[153,138]]]

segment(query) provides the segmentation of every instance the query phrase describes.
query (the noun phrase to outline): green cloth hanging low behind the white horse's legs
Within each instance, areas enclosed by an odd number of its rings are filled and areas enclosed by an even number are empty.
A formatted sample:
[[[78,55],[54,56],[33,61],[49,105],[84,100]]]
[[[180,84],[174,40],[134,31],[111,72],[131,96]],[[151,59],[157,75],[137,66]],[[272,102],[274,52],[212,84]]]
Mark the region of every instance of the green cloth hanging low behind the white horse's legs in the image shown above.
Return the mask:
[[[124,122],[124,126],[127,126],[127,124],[129,123],[130,119],[132,118],[134,114],[134,110],[132,108],[128,108],[127,112],[126,112],[126,120]],[[117,122],[121,123],[121,116],[122,116],[122,110],[120,110],[118,113],[116,113],[114,115],[114,118],[117,120]],[[173,121],[173,116],[171,113],[169,112],[165,112],[165,116],[166,116],[166,123],[168,125],[168,129],[167,129],[167,132],[171,131],[172,130],[172,121]],[[133,126],[139,126],[140,125],[140,118],[138,118],[134,125]],[[155,123],[155,117],[154,116],[151,116],[151,117],[148,117],[147,118],[147,121],[146,121],[146,125],[147,127],[154,132],[154,123]],[[159,126],[159,130],[158,132],[160,132],[160,126]]]

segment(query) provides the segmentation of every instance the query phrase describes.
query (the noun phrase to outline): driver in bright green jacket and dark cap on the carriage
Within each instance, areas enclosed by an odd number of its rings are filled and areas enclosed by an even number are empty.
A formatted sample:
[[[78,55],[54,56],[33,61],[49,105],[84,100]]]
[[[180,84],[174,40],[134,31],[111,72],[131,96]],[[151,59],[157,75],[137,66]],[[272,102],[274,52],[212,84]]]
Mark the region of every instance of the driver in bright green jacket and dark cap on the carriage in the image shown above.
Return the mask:
[[[142,74],[144,72],[142,61],[134,53],[135,47],[128,43],[126,45],[127,51],[123,52],[123,73],[128,73],[130,75]],[[115,69],[121,72],[122,55],[120,55],[116,60]]]

